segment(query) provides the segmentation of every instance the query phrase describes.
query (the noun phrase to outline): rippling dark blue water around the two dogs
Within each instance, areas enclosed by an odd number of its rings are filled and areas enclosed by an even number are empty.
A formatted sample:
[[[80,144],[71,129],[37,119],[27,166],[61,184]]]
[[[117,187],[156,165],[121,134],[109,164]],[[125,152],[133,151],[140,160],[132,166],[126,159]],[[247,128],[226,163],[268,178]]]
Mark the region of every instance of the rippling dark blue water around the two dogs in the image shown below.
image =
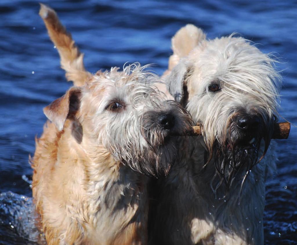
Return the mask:
[[[187,23],[203,28],[208,38],[240,33],[263,52],[279,57],[283,76],[279,113],[297,125],[296,1],[44,3],[56,9],[91,72],[139,61],[154,63],[153,70],[161,75],[171,54],[170,38]],[[28,156],[33,155],[34,137],[40,136],[46,120],[42,108],[71,86],[38,11],[38,1],[0,1],[0,193],[13,192],[0,196],[0,244],[34,244],[28,238],[28,233],[37,232],[30,230],[34,214],[26,205],[31,198],[24,204],[24,198],[31,197]],[[289,139],[278,141],[278,171],[267,182],[265,244],[297,244],[296,136],[292,126]],[[16,217],[26,217],[23,227]]]

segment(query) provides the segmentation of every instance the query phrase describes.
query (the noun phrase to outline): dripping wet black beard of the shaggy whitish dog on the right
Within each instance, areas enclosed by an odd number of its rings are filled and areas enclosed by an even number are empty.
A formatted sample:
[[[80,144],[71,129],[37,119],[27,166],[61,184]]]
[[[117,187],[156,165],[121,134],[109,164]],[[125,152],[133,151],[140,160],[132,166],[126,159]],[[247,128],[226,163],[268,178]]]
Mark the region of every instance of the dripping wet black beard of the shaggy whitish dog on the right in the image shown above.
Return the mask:
[[[212,148],[212,158],[216,168],[216,174],[212,180],[214,193],[222,183],[225,184],[227,190],[235,182],[241,183],[242,188],[249,172],[262,160],[268,150],[274,121],[275,119],[272,119],[267,124],[261,124],[257,134],[244,136],[238,134],[236,129],[232,129],[231,125],[227,130],[229,132],[227,140],[221,143],[217,140],[214,142]]]

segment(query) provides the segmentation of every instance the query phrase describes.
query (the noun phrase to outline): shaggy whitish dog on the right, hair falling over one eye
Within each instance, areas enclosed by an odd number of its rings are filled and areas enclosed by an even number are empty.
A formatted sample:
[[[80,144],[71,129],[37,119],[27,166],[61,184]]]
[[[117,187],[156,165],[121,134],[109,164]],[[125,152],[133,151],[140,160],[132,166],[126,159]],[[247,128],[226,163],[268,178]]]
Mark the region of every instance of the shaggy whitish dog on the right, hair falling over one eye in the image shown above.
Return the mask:
[[[263,244],[265,180],[277,159],[274,60],[241,37],[206,40],[193,25],[172,47],[168,90],[203,137],[187,164],[158,183],[151,244]]]

